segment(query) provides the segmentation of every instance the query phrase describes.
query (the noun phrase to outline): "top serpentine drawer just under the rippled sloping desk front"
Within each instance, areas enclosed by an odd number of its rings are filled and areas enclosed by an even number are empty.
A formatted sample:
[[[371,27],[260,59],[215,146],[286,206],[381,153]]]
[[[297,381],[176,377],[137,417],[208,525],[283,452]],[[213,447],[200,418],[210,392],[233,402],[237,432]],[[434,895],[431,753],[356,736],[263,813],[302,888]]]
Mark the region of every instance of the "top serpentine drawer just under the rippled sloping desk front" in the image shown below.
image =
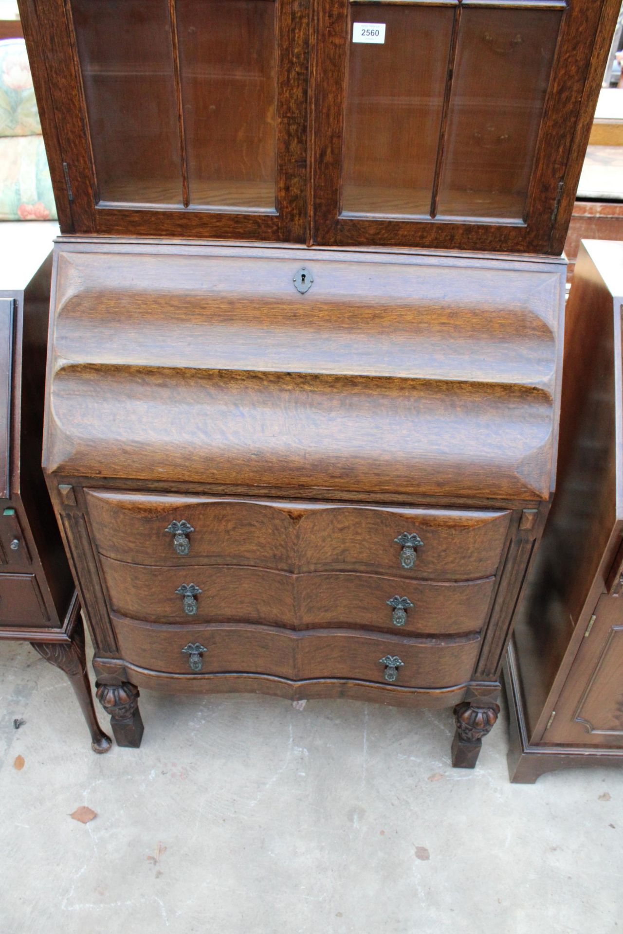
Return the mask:
[[[97,550],[120,561],[438,580],[494,574],[512,515],[105,490],[86,490],[86,499]]]

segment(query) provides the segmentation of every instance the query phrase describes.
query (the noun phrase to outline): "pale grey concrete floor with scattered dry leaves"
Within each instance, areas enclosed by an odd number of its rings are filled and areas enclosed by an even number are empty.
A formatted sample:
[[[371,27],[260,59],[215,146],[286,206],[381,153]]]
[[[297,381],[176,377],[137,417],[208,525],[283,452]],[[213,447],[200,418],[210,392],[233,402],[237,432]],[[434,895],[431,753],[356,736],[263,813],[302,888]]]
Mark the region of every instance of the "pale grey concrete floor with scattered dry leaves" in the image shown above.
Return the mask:
[[[0,644],[1,934],[623,932],[623,772],[510,785],[503,717],[471,772],[449,711],[141,710],[140,750],[94,756],[62,672]]]

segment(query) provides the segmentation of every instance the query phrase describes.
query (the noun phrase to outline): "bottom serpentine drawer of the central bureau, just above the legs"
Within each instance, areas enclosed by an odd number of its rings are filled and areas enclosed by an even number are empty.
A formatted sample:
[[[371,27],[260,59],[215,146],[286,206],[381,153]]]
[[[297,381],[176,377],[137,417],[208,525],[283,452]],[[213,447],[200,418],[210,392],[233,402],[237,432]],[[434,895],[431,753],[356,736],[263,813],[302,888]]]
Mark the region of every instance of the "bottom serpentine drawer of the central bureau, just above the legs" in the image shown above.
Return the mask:
[[[352,630],[175,626],[113,618],[121,657],[157,672],[260,673],[446,687],[469,681],[480,637],[402,638]],[[383,660],[381,660],[383,659]]]

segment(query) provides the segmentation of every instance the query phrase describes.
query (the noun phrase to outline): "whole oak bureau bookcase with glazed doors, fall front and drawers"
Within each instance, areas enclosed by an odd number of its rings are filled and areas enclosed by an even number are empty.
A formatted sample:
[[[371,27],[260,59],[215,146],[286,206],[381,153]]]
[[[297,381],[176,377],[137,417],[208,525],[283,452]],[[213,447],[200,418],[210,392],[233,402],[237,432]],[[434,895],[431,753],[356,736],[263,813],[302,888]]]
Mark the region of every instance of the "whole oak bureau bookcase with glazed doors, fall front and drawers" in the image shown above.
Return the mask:
[[[617,9],[21,0],[64,233],[44,466],[120,743],[139,687],[271,691],[454,707],[474,766]]]

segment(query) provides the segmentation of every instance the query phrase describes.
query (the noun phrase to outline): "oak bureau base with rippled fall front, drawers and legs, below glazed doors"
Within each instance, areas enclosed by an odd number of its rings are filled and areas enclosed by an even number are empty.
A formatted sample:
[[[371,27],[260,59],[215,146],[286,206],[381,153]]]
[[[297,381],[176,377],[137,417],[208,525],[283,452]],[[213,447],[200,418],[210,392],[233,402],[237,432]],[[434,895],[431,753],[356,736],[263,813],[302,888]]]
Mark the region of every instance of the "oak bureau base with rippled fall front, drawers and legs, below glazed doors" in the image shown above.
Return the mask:
[[[565,263],[55,247],[44,470],[97,696],[455,708],[500,671],[554,486]]]

